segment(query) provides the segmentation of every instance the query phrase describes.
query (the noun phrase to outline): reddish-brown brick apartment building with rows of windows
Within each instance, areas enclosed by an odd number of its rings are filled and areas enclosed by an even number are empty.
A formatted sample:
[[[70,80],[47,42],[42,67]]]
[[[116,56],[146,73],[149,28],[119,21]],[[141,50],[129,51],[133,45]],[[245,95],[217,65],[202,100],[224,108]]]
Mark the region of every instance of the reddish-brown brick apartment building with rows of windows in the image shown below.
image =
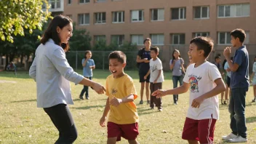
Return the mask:
[[[215,41],[215,52],[222,54],[224,47],[231,46],[229,33],[235,28],[246,31],[244,43],[249,53],[256,55],[255,0],[64,0],[60,3],[63,14],[71,17],[77,28],[89,31],[92,45],[99,40],[107,44],[131,41],[143,47],[143,39],[150,37],[153,46],[161,49],[166,66],[173,49],[180,49],[182,56],[187,57],[188,44],[194,36],[210,36]]]

